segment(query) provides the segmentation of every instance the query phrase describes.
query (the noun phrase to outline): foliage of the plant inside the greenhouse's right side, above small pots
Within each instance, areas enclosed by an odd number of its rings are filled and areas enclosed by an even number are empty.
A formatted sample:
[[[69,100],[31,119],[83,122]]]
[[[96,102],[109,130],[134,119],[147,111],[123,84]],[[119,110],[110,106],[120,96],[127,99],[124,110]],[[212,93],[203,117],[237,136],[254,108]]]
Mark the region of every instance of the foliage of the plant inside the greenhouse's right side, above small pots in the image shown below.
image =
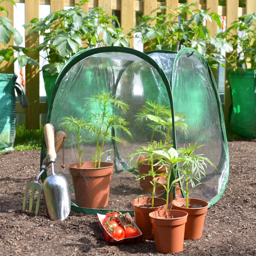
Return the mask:
[[[165,143],[170,144],[170,135],[172,131],[172,113],[168,106],[163,106],[156,101],[146,101],[146,105],[139,109],[135,116],[137,122],[147,122],[146,127],[152,130],[151,143],[153,143],[156,133],[160,133],[165,137]],[[184,122],[185,116],[179,113],[175,114],[175,126],[184,126],[187,129],[187,124]]]

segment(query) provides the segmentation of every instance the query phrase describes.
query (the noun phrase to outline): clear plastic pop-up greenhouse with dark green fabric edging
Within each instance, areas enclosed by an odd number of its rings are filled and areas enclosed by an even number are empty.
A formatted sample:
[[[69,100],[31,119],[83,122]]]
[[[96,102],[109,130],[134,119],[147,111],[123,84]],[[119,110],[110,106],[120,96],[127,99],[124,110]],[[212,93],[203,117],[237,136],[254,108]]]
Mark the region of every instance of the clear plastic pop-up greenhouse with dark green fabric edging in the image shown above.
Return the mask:
[[[146,55],[125,47],[102,47],[79,52],[63,67],[55,83],[47,122],[53,124],[56,131],[63,130],[67,133],[67,168],[64,173],[61,170],[59,173],[65,175],[70,184],[72,210],[104,213],[106,209],[117,209],[129,212],[132,211],[131,200],[151,196],[152,192],[143,190],[137,180],[136,159],[129,162],[128,156],[152,142],[169,143],[176,148],[193,142],[204,144],[200,154],[214,162],[217,171],[208,167],[207,176],[203,177],[202,184],[194,190],[191,197],[207,200],[212,205],[222,196],[229,169],[222,110],[207,64],[195,54],[188,57],[186,51],[190,50],[183,49],[179,53],[149,52]],[[114,115],[128,123],[125,125],[126,129],[110,127],[109,135],[104,141],[101,161],[113,162],[114,172],[111,175],[107,206],[94,210],[90,209],[94,207],[87,207],[87,204],[77,199],[77,194],[82,193],[83,188],[74,193],[74,180],[68,166],[79,162],[78,136],[76,131],[65,130],[61,123],[64,122],[63,117],[72,116],[77,120],[83,118],[85,122],[96,124],[99,122],[96,116],[103,111],[101,105],[96,103],[97,96],[106,93],[127,104],[125,111],[118,104],[107,101],[107,118]],[[91,106],[90,110],[86,109],[88,105]],[[159,124],[154,116],[160,116],[165,125]],[[102,130],[106,128],[106,123],[101,127]],[[89,155],[95,156],[96,143],[98,141],[101,144],[103,138],[98,138],[96,133],[88,129],[81,129],[80,136],[82,162],[92,161]],[[45,155],[43,145],[41,159]],[[61,164],[62,161],[60,151],[56,164]],[[55,168],[56,173],[57,169]],[[87,177],[82,178],[87,182]],[[98,178],[95,178],[95,184],[96,179]],[[97,183],[96,187],[103,185]],[[86,199],[87,192],[82,197]]]

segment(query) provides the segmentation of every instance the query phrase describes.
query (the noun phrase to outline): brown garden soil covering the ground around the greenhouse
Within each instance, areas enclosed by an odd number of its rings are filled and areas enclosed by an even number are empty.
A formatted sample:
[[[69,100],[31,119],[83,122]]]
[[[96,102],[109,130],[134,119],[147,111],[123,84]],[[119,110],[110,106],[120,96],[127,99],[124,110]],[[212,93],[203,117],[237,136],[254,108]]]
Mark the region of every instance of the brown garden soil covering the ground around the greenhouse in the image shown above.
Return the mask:
[[[208,209],[202,237],[185,240],[184,250],[175,255],[256,255],[256,140],[230,141],[228,146],[226,191]],[[39,151],[0,155],[0,255],[163,255],[157,253],[154,240],[106,243],[96,215],[71,211],[64,221],[51,221],[42,198],[37,217],[28,214],[28,205],[23,213],[25,187],[39,170]],[[128,198],[125,183],[118,187],[118,199],[110,201],[113,208],[124,198],[129,201],[138,197],[135,189]]]

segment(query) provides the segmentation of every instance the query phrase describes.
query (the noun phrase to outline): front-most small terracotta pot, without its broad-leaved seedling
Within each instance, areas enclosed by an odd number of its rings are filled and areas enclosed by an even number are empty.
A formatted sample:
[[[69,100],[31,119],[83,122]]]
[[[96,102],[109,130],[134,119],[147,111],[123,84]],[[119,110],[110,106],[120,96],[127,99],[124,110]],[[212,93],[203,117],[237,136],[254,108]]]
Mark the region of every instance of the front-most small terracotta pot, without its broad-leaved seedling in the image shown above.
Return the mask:
[[[156,250],[160,253],[177,253],[183,250],[185,224],[188,214],[184,211],[155,211],[149,214],[154,230]]]

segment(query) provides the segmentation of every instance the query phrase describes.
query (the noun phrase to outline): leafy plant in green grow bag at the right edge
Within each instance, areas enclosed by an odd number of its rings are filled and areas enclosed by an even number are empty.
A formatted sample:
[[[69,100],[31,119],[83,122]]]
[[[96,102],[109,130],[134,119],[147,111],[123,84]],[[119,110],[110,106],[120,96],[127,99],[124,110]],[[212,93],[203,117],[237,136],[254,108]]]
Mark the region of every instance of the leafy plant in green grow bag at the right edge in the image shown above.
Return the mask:
[[[218,37],[233,45],[226,55],[228,82],[232,96],[229,123],[233,132],[242,137],[256,138],[256,13],[238,17]]]

